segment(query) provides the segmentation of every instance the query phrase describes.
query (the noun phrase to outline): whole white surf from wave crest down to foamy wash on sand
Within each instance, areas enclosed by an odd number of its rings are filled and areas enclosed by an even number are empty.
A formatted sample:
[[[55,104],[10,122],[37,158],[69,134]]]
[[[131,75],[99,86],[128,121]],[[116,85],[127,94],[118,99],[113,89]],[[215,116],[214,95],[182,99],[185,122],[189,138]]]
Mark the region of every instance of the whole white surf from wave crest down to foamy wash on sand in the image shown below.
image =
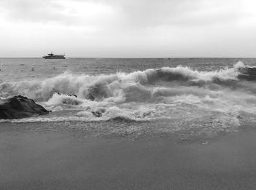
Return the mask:
[[[80,127],[84,122],[117,122],[115,127],[107,124],[108,130],[136,134],[236,130],[241,120],[255,116],[255,82],[256,68],[241,62],[217,71],[177,66],[97,76],[66,72],[43,80],[1,82],[0,97],[23,95],[52,112],[0,122],[83,122]],[[121,122],[140,124],[124,127]],[[108,131],[105,124],[102,128]]]

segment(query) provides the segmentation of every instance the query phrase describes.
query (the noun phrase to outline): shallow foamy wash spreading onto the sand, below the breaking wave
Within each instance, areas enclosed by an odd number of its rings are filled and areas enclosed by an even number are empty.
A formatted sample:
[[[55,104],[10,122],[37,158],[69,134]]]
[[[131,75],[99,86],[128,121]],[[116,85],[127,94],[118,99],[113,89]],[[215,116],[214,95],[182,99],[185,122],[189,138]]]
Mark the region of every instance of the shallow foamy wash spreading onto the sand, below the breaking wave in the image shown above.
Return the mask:
[[[157,110],[158,109],[158,110]],[[218,132],[232,132],[240,127],[241,116],[237,110],[230,110],[226,113],[199,111],[195,108],[184,106],[177,110],[172,106],[164,104],[154,105],[154,108],[133,106],[133,109],[118,108],[96,108],[94,111],[102,113],[102,116],[95,116],[92,110],[79,111],[70,116],[38,116],[26,119],[0,119],[1,122],[25,123],[26,128],[31,130],[67,130],[81,129],[86,135],[118,135],[118,136],[150,136],[155,134],[181,134],[189,137],[211,137]],[[154,116],[159,111],[157,116]],[[161,112],[162,111],[162,112]],[[165,114],[165,111],[168,113]],[[154,117],[152,117],[154,116]],[[37,124],[44,123],[44,127],[37,127]],[[97,123],[97,124],[96,124]],[[38,124],[38,126],[40,126]],[[42,126],[42,125],[41,125]]]

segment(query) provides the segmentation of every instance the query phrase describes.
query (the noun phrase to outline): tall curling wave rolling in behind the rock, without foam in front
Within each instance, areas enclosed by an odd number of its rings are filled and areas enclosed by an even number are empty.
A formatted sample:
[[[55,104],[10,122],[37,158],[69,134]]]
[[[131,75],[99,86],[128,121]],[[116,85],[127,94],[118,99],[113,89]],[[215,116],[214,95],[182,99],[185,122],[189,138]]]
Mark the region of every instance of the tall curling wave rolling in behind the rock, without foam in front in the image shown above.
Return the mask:
[[[178,66],[99,76],[64,73],[42,81],[1,82],[0,97],[24,95],[37,102],[48,101],[51,105],[71,106],[83,105],[85,100],[87,103],[154,101],[162,96],[217,93],[206,92],[206,88],[219,90],[219,87],[233,87],[235,84],[241,88],[244,84],[239,86],[238,82],[252,80],[254,74],[253,68],[246,70],[241,62],[233,68],[218,71],[197,71]],[[255,87],[250,85],[248,89],[255,90]]]

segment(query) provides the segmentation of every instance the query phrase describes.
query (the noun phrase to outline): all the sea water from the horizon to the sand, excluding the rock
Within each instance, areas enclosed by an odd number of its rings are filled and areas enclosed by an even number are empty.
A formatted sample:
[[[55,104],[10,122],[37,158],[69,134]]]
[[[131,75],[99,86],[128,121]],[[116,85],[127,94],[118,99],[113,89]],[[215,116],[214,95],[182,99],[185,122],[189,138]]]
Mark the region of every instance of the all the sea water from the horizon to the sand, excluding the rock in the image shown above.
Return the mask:
[[[256,59],[244,58],[1,58],[0,98],[24,95],[52,112],[0,125],[214,138],[254,126],[254,66]]]

